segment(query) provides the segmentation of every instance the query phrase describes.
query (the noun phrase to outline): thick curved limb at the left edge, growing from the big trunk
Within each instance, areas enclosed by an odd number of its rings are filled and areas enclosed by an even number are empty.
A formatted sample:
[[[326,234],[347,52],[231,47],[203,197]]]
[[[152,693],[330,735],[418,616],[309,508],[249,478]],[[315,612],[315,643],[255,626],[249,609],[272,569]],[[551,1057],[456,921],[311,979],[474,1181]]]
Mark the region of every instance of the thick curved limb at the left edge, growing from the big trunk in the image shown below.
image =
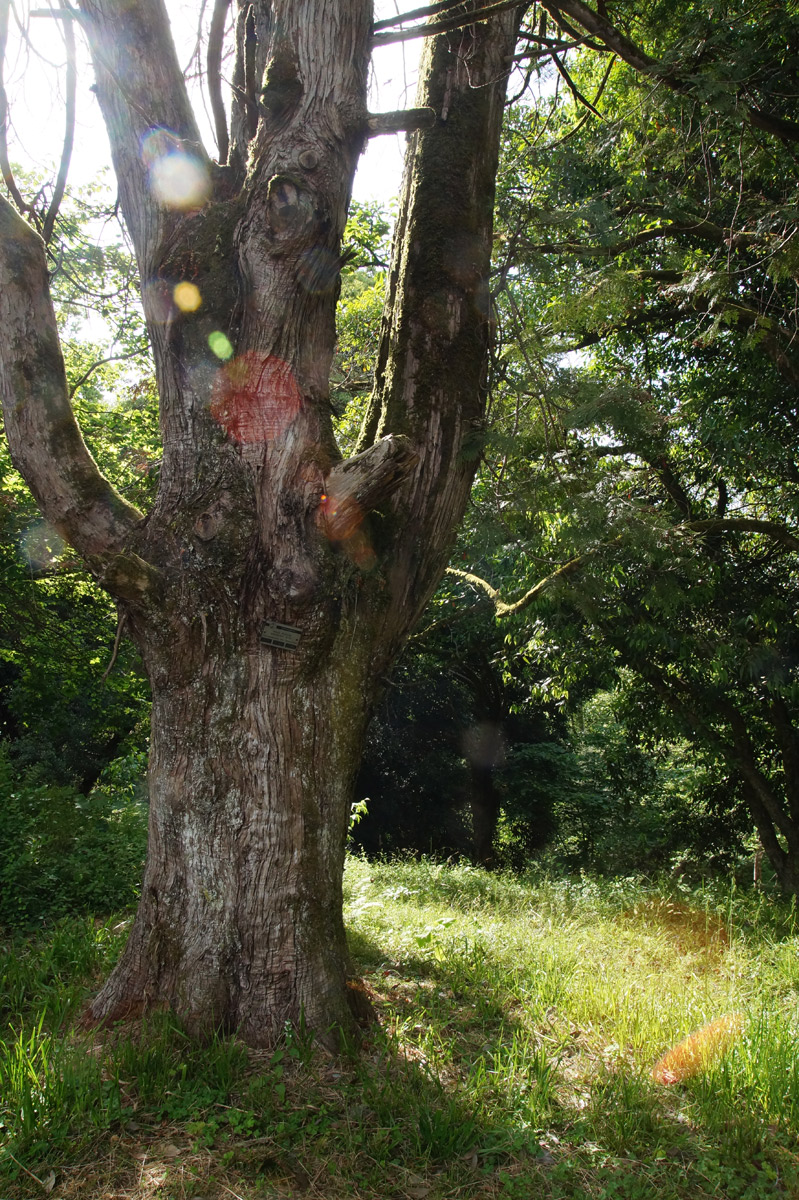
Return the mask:
[[[0,397],[14,466],[86,558],[122,550],[142,514],[89,454],[67,400],[44,242],[0,197]]]

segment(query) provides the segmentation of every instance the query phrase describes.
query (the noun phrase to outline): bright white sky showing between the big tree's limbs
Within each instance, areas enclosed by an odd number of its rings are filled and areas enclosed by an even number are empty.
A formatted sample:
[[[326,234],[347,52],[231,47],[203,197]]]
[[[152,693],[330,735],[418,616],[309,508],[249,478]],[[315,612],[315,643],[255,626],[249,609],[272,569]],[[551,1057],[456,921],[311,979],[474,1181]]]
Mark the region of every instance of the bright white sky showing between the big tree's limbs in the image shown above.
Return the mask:
[[[411,6],[413,0],[403,0],[402,5],[395,0],[376,0],[376,19],[409,11]],[[17,5],[17,11],[22,16],[31,7],[37,10],[36,0],[23,0]],[[167,0],[167,7],[173,31],[176,32],[179,56],[187,65],[194,50],[199,6],[187,0]],[[6,90],[11,109],[8,149],[12,162],[49,170],[60,158],[64,137],[64,42],[60,23],[49,17],[32,17],[30,30],[36,53],[31,53],[25,46],[12,11],[6,60]],[[110,164],[102,118],[90,90],[92,70],[79,35],[78,46],[78,115],[70,172],[70,181],[73,184],[96,179]],[[419,53],[419,41],[376,50],[370,95],[372,112],[390,112],[413,104]],[[214,151],[211,126],[204,115],[202,96],[196,100],[196,110],[206,144]],[[355,180],[355,198],[388,202],[396,196],[400,191],[403,152],[404,134],[372,138]]]

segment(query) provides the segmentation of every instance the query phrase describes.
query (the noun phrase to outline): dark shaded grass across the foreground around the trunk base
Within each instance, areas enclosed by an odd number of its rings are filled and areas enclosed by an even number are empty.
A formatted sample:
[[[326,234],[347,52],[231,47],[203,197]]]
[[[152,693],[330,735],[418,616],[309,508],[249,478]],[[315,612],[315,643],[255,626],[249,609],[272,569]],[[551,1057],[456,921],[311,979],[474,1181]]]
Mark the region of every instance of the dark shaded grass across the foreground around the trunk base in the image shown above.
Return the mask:
[[[199,1046],[169,1014],[73,1034],[65,1012],[104,961],[58,937],[58,954],[42,948],[40,1008],[32,944],[25,979],[8,977],[25,1021],[10,995],[4,1200],[46,1194],[52,1175],[58,1200],[799,1195],[797,1129],[757,1116],[756,1073],[723,1064],[663,1088],[603,1056],[602,1031],[570,1020],[569,968],[547,953],[507,962],[443,936],[397,960],[352,931],[380,1024],[331,1057],[293,1030],[274,1052],[227,1037]],[[757,1045],[746,1052],[753,1062]],[[780,1078],[799,1094],[791,1052]]]

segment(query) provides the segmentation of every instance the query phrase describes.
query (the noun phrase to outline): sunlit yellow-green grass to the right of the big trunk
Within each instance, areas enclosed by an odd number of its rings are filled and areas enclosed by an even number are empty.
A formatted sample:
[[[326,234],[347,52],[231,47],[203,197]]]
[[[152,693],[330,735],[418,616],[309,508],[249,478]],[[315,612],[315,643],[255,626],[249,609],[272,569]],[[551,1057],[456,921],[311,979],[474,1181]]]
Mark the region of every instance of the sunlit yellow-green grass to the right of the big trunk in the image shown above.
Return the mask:
[[[674,896],[641,884],[636,894],[633,881],[522,886],[410,863],[353,863],[350,871],[355,946],[367,961],[379,946],[384,972],[394,965],[389,1010],[404,1012],[404,1026],[411,1036],[423,1028],[420,1044],[429,1045],[435,1004],[426,1001],[421,1012],[423,991],[403,980],[445,985],[449,1044],[433,1060],[447,1058],[452,1086],[470,1092],[485,1114],[515,1112],[517,1140],[524,1124],[546,1134],[548,1122],[560,1153],[564,1145],[578,1156],[603,1146],[624,1157],[632,1145],[654,1160],[696,1157],[705,1133],[737,1160],[761,1145],[762,1130],[767,1141],[776,1129],[795,1140],[795,1040],[780,1015],[793,961],[775,954],[774,913],[762,902],[761,925],[747,898],[739,906],[729,894]],[[777,970],[764,970],[764,952]],[[773,997],[768,1020],[764,991]],[[419,1020],[408,1012],[414,1004]],[[739,1044],[719,1061],[710,1056],[679,1103],[661,1094],[651,1079],[657,1058],[738,1010],[745,1014]],[[509,1030],[510,1055],[503,1052]],[[536,1094],[530,1108],[527,1098]],[[680,1150],[686,1139],[693,1148]]]

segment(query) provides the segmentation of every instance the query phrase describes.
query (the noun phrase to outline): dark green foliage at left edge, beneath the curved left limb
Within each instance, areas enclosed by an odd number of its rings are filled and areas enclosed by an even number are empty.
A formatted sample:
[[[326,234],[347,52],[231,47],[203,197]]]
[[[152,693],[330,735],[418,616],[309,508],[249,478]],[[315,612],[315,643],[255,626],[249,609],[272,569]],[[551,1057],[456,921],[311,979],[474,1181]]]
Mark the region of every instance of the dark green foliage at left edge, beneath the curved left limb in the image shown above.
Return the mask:
[[[137,727],[142,743],[146,684],[130,642],[108,671],[114,605],[1,454],[0,470],[1,732],[20,768],[86,792]]]

